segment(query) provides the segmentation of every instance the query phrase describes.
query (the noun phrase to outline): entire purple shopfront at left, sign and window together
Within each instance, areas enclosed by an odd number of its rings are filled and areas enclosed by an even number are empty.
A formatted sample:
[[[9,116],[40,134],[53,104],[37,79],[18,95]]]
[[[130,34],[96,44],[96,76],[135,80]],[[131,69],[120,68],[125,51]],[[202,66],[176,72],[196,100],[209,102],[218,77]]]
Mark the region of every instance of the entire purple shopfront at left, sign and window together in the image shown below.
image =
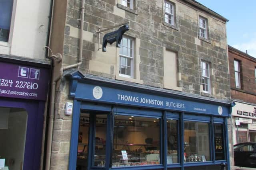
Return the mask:
[[[0,61],[0,160],[9,170],[40,167],[49,79],[49,65]]]

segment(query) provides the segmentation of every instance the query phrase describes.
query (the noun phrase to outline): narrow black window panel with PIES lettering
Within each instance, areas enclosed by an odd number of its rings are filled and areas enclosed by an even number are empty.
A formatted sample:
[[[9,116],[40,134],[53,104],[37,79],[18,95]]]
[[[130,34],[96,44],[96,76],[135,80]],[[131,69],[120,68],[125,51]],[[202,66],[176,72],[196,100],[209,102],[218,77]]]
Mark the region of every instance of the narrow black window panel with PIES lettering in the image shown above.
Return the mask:
[[[223,124],[214,123],[215,160],[224,160]]]

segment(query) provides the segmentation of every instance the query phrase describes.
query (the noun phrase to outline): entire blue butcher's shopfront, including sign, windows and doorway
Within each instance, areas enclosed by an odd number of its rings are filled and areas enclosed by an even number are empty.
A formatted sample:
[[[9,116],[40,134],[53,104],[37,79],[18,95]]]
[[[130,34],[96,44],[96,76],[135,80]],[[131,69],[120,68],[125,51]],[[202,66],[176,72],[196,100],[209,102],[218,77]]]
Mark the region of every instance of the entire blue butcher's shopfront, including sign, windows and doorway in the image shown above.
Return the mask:
[[[66,77],[70,170],[230,169],[230,103],[78,71]]]

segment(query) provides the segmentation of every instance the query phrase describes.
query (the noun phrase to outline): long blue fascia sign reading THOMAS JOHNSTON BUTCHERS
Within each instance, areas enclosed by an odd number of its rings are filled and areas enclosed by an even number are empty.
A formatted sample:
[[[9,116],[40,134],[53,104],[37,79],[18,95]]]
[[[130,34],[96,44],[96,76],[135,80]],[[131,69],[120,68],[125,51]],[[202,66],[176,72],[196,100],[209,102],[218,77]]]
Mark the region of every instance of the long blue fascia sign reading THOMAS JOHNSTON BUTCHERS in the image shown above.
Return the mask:
[[[75,93],[76,98],[97,102],[206,113],[218,116],[228,116],[229,113],[229,109],[226,106],[180,100],[104,86],[94,86],[80,82],[77,84]]]

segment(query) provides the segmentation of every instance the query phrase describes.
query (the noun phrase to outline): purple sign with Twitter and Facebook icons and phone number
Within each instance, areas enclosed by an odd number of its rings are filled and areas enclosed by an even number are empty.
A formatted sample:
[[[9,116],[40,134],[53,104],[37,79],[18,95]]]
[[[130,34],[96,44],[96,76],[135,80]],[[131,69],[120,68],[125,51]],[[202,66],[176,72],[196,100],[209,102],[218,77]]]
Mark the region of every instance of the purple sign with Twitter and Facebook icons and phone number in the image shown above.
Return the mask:
[[[46,100],[49,70],[0,62],[0,96]]]

